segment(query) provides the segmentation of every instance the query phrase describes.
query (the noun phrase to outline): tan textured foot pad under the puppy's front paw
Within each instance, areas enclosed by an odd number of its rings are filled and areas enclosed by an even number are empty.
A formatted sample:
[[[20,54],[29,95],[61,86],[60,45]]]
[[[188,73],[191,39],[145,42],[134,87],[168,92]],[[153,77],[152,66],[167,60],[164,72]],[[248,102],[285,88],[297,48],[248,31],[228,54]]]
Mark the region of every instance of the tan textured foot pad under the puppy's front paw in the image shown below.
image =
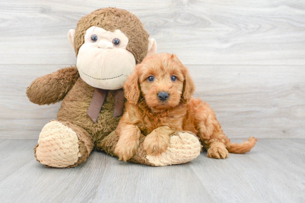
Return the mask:
[[[182,164],[189,162],[200,154],[199,139],[186,132],[179,132],[171,136],[166,152],[160,156],[147,155],[148,161],[155,166]]]

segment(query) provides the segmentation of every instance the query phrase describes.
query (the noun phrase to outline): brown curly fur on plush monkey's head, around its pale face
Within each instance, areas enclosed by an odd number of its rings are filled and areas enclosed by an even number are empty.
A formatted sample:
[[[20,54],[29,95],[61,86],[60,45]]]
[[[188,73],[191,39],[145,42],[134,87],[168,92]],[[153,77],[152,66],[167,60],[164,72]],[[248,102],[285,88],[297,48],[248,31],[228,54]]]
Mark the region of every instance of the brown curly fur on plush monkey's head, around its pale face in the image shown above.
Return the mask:
[[[129,39],[126,49],[134,55],[137,64],[141,63],[147,55],[149,34],[138,17],[129,11],[111,7],[97,9],[78,21],[74,37],[76,55],[85,42],[86,30],[91,26],[97,26],[107,31],[120,29]]]

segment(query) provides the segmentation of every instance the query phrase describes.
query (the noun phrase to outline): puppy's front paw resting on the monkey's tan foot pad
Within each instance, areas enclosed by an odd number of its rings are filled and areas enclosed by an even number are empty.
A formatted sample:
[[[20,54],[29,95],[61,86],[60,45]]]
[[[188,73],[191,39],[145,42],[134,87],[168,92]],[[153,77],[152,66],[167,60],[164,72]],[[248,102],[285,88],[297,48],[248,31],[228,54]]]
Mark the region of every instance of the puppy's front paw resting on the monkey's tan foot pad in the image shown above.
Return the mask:
[[[169,140],[168,135],[149,134],[144,139],[143,147],[148,155],[158,156],[166,151]]]

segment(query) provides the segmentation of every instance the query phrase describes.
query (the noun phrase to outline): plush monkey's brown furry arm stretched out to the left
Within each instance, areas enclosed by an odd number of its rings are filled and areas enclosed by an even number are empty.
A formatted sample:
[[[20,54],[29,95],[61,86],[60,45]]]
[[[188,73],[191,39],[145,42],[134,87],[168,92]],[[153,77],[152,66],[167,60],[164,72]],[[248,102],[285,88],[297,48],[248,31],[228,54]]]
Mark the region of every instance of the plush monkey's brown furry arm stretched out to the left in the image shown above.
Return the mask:
[[[54,104],[65,97],[78,77],[76,67],[61,68],[58,71],[36,78],[26,88],[26,95],[35,104]]]

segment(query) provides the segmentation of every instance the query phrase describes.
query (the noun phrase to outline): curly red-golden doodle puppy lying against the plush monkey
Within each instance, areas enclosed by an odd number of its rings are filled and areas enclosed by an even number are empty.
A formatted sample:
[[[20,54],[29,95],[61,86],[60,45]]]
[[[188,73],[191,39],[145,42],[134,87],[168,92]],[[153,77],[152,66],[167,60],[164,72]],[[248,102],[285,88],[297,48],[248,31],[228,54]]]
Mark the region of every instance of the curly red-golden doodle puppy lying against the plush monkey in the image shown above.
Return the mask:
[[[231,143],[223,134],[215,113],[199,98],[192,98],[195,84],[187,68],[175,55],[152,55],[138,64],[124,84],[127,104],[116,133],[115,154],[127,161],[136,152],[139,139],[148,155],[165,152],[175,131],[195,133],[208,157],[227,158],[228,152],[249,152],[256,138]]]

